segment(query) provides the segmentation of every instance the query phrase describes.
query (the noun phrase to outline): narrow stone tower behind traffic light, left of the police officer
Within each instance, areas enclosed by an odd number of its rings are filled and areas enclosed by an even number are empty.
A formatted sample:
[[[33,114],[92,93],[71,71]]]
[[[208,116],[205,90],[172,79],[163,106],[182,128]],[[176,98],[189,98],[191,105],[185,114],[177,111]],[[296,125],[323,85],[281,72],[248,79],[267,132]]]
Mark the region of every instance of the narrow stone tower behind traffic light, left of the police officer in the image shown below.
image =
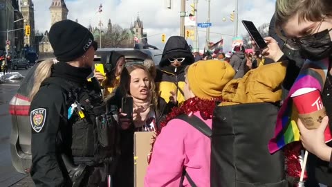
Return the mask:
[[[24,26],[30,26],[30,35],[24,37],[24,45],[35,49],[35,12],[32,0],[21,1],[21,12],[24,18]]]

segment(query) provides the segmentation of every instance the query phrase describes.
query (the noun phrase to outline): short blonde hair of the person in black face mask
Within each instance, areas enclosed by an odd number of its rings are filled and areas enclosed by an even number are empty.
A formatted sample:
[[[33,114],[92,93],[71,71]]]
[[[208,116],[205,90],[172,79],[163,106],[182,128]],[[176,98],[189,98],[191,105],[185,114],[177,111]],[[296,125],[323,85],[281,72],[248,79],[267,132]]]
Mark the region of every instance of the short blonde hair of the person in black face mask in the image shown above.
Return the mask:
[[[332,17],[331,0],[277,0],[275,6],[275,26],[280,29],[289,19],[298,15],[302,21],[322,21]]]

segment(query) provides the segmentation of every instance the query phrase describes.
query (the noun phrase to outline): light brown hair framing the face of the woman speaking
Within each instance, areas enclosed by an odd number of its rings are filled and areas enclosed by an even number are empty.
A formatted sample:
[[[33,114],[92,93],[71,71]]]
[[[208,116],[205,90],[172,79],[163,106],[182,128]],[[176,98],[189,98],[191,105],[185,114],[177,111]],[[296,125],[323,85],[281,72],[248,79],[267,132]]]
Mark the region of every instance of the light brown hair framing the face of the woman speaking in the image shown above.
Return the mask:
[[[151,104],[155,107],[158,103],[158,98],[156,96],[156,83],[154,82],[154,79],[151,77],[148,69],[140,64],[133,64],[131,66],[127,66],[126,69],[123,69],[121,76],[120,76],[120,89],[122,89],[123,93],[130,95],[130,82],[131,82],[131,76],[130,73],[133,72],[136,69],[142,69],[147,73],[147,76],[149,78],[149,84],[150,84],[150,93],[151,93]]]

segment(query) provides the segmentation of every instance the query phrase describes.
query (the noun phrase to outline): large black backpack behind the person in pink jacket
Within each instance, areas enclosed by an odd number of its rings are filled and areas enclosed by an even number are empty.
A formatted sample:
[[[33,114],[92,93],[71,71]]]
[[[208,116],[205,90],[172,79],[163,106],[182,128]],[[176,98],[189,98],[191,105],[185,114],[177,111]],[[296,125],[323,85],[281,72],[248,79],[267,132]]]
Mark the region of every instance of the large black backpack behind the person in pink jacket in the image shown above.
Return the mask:
[[[212,119],[212,187],[286,187],[284,154],[268,152],[279,106],[217,106]]]

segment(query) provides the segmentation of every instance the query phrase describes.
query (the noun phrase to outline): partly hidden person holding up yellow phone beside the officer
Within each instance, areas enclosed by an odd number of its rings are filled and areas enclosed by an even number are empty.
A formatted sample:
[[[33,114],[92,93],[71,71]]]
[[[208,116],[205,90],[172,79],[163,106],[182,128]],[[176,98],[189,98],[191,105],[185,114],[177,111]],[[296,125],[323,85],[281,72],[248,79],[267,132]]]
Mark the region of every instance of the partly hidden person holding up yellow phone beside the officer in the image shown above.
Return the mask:
[[[111,59],[109,64],[104,64],[106,75],[94,70],[94,76],[99,80],[101,86],[104,88],[104,97],[113,92],[120,84],[120,74],[126,64],[124,55],[116,51],[111,51]]]

